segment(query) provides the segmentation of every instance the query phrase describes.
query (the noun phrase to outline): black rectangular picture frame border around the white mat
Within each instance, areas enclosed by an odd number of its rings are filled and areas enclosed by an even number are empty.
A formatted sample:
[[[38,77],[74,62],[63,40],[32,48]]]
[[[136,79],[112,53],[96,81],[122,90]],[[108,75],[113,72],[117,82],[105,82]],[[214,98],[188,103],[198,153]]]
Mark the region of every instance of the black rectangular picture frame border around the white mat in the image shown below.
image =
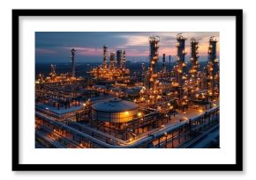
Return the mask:
[[[154,12],[154,13],[153,13]],[[21,164],[19,163],[19,17],[181,16],[236,18],[236,163],[235,164]],[[239,72],[239,74],[238,74]],[[12,10],[12,170],[237,171],[243,170],[243,10]]]

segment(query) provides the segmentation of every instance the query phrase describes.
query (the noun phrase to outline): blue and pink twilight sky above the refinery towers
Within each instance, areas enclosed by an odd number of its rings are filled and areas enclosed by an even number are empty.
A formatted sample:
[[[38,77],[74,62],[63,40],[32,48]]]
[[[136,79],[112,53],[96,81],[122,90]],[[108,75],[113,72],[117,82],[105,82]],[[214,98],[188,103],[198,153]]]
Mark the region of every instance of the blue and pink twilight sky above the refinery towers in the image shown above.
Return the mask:
[[[106,44],[108,56],[118,49],[126,51],[127,60],[147,61],[149,36],[160,37],[159,54],[176,56],[176,37],[179,32],[35,32],[36,62],[69,62],[70,50],[76,51],[75,61],[102,61],[102,46]],[[208,41],[211,36],[219,40],[219,32],[183,32],[186,40],[186,57],[190,57],[190,40],[200,42],[201,59],[207,56]],[[217,43],[219,55],[219,43]]]

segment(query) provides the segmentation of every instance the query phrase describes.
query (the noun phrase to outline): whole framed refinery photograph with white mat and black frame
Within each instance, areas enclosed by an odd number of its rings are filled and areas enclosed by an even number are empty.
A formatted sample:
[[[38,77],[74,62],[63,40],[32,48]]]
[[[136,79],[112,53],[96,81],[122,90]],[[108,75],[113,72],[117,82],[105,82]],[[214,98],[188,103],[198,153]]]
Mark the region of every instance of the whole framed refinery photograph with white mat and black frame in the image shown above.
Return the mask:
[[[12,10],[12,170],[243,170],[242,10]]]

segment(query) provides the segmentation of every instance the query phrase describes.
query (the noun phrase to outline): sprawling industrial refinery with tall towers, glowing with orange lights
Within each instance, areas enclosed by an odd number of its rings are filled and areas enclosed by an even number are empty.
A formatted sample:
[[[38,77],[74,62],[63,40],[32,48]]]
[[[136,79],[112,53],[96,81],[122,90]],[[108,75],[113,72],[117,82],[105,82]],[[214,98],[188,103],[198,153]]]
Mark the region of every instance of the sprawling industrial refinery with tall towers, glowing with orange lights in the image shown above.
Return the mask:
[[[35,81],[36,148],[219,148],[219,60],[217,39],[209,37],[207,66],[200,67],[200,41],[177,34],[175,66],[162,54],[160,38],[148,39],[148,66],[137,78],[125,66],[126,52],[102,47],[102,64],[89,77],[76,76],[76,49],[71,70]],[[185,56],[190,61],[185,61]],[[109,60],[109,61],[108,61]],[[199,143],[200,142],[200,145]]]

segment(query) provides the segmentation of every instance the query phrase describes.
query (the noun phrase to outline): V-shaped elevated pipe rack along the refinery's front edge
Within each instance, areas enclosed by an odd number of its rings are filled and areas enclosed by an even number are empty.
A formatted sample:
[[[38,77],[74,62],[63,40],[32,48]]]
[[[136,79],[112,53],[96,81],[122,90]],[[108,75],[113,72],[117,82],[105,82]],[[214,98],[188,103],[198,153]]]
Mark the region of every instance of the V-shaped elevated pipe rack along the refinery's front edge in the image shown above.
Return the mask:
[[[149,145],[152,146],[152,142],[154,140],[159,140],[159,144],[157,145],[157,147],[162,147],[163,142],[161,142],[161,139],[166,136],[169,137],[169,134],[171,133],[173,136],[174,132],[178,132],[180,135],[180,137],[178,138],[182,138],[188,133],[192,133],[193,131],[200,131],[207,125],[210,126],[209,122],[211,121],[215,121],[215,124],[217,124],[219,119],[219,107],[214,107],[208,110],[207,112],[200,114],[199,116],[193,117],[188,121],[182,121],[174,126],[168,126],[168,127],[159,129],[154,133],[149,133],[146,137],[141,136],[139,139],[131,141],[129,143],[125,143],[122,140],[117,140],[117,142],[120,143],[119,145],[111,145],[105,141],[99,140],[90,134],[77,130],[72,126],[65,125],[63,122],[50,119],[49,117],[45,116],[44,114],[41,114],[40,112],[35,112],[35,115],[40,119],[48,121],[53,126],[62,127],[68,132],[79,136],[79,140],[81,139],[81,140],[89,141],[90,143],[94,144],[95,147],[97,148],[148,148]],[[87,131],[93,132],[93,130],[90,127],[86,127],[86,126],[80,126],[80,127],[85,128],[85,130]],[[97,131],[97,130],[94,130],[94,131]],[[103,134],[98,131],[95,133],[99,133],[100,135],[106,135],[105,133]],[[108,138],[110,138],[110,136]],[[111,139],[114,140],[112,136],[111,136]],[[167,140],[167,143],[169,143],[170,141],[171,140]],[[154,148],[155,146],[156,145],[153,145],[152,147]]]

